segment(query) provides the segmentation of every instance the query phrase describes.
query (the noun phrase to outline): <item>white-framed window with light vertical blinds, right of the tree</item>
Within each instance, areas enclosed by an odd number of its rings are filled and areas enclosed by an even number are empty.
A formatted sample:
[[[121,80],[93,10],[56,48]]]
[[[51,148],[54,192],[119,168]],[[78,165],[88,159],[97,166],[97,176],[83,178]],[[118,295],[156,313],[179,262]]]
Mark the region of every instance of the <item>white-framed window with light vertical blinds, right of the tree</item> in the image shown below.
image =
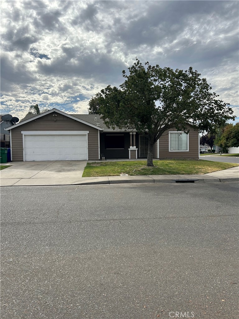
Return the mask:
[[[170,131],[169,152],[189,152],[189,134]]]

